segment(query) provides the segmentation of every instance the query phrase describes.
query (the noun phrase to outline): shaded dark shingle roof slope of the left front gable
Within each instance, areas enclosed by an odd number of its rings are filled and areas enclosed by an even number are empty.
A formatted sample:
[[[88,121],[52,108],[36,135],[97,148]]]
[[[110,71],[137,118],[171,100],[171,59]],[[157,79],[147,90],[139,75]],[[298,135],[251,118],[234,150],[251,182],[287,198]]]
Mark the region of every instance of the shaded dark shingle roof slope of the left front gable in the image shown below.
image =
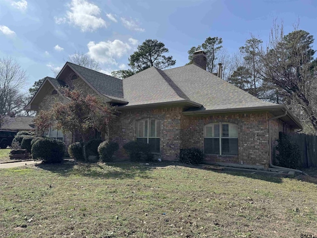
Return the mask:
[[[122,80],[104,73],[67,62],[103,95],[123,99]]]

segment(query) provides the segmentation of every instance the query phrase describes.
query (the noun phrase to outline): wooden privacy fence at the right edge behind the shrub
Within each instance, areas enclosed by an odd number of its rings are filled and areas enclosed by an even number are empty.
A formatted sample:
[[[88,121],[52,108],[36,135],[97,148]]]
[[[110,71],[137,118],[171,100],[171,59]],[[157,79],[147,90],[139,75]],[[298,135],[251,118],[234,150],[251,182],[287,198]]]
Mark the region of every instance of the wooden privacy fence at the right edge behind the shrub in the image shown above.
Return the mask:
[[[307,134],[289,134],[290,140],[299,146],[301,166],[317,168],[317,136]]]

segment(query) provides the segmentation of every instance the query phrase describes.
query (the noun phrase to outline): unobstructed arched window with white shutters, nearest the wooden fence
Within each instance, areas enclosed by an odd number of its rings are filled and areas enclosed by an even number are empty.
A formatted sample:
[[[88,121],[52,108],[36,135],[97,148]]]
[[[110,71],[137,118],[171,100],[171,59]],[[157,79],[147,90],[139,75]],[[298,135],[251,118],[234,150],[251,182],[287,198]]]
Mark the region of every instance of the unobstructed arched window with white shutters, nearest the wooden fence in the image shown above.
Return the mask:
[[[204,127],[205,154],[238,155],[238,125],[213,122]]]

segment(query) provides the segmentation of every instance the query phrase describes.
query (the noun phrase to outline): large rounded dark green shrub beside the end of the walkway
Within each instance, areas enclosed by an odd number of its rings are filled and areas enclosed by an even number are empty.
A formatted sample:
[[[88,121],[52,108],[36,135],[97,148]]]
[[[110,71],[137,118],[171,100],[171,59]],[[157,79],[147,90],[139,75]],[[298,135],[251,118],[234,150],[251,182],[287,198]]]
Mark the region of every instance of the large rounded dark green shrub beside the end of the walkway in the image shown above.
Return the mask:
[[[43,163],[60,163],[63,160],[65,143],[52,138],[41,138],[32,145],[31,153],[35,160]]]

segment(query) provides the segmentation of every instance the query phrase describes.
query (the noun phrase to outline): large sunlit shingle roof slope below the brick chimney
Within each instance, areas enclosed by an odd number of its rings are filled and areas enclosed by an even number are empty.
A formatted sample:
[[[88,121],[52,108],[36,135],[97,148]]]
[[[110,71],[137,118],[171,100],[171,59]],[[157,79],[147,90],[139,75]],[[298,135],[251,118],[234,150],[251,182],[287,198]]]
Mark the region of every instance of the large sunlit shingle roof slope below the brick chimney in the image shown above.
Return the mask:
[[[201,110],[255,108],[276,105],[252,96],[195,64],[166,69],[164,72],[191,101],[204,106]]]

